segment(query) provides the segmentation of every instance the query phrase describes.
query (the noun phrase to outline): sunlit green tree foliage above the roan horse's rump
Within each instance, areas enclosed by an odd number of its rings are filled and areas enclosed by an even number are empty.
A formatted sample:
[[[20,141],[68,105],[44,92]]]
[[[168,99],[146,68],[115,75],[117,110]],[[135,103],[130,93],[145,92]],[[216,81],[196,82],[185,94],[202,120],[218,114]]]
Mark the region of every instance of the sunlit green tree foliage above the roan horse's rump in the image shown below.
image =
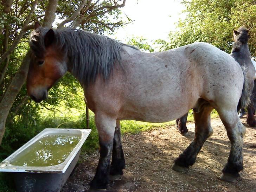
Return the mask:
[[[179,20],[179,30],[170,32],[169,42],[159,40],[162,49],[173,49],[194,42],[207,42],[230,53],[232,29],[250,29],[249,48],[256,56],[256,4],[254,0],[183,0],[186,18]]]

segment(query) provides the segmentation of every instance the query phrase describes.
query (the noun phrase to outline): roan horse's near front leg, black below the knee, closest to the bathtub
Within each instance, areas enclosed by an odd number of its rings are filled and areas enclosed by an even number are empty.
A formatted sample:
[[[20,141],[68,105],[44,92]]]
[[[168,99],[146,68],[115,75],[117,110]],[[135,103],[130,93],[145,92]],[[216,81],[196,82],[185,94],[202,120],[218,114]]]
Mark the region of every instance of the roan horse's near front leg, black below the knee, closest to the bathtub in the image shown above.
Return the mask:
[[[96,113],[95,124],[99,135],[100,159],[90,186],[91,189],[106,189],[109,184],[110,157],[113,149],[116,119],[104,113]]]

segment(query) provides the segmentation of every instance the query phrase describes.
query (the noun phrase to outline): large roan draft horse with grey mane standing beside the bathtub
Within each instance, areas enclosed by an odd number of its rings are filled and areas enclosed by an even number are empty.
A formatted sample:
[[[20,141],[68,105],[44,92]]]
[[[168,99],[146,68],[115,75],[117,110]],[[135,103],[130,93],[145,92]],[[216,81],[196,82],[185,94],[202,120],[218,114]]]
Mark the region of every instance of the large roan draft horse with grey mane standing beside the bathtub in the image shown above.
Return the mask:
[[[70,72],[80,82],[85,102],[95,114],[100,158],[91,190],[107,189],[110,179],[123,175],[121,120],[167,122],[191,108],[197,112],[195,137],[172,169],[182,172],[194,164],[213,133],[210,114],[216,109],[231,142],[220,179],[238,179],[243,169],[245,127],[237,105],[247,105],[249,90],[245,71],[227,53],[207,43],[145,53],[117,40],[70,28],[38,27],[31,33],[29,45],[26,85],[32,100],[46,99],[53,84]]]

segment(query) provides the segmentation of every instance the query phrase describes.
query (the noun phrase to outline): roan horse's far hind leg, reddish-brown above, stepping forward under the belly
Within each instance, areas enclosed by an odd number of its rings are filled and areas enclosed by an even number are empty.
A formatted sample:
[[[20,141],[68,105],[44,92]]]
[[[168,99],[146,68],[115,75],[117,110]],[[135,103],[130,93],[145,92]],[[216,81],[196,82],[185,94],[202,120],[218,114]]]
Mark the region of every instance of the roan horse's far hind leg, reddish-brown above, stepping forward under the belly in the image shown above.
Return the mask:
[[[195,136],[192,143],[180,156],[174,160],[172,169],[175,171],[185,171],[189,166],[192,166],[196,161],[197,154],[208,137],[213,133],[211,127],[211,111],[212,107],[209,103],[205,103],[198,113],[194,114],[196,124]]]

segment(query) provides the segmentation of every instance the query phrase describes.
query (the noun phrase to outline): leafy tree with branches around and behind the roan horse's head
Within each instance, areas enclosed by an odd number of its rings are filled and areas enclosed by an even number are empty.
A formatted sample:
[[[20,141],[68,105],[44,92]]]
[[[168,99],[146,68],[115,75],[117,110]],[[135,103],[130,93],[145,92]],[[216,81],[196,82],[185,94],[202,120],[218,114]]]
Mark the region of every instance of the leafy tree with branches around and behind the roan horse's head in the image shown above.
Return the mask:
[[[36,121],[36,109],[55,110],[63,101],[66,106],[78,107],[83,97],[79,83],[67,74],[51,89],[49,99],[31,103],[25,81],[30,62],[28,40],[38,21],[44,27],[72,27],[103,33],[113,32],[125,24],[119,8],[126,0],[2,0],[0,3],[0,144],[6,122],[25,119]],[[53,23],[54,22],[54,23]],[[63,104],[63,103],[62,103]],[[49,107],[50,106],[50,107]],[[8,120],[9,119],[9,120]]]

